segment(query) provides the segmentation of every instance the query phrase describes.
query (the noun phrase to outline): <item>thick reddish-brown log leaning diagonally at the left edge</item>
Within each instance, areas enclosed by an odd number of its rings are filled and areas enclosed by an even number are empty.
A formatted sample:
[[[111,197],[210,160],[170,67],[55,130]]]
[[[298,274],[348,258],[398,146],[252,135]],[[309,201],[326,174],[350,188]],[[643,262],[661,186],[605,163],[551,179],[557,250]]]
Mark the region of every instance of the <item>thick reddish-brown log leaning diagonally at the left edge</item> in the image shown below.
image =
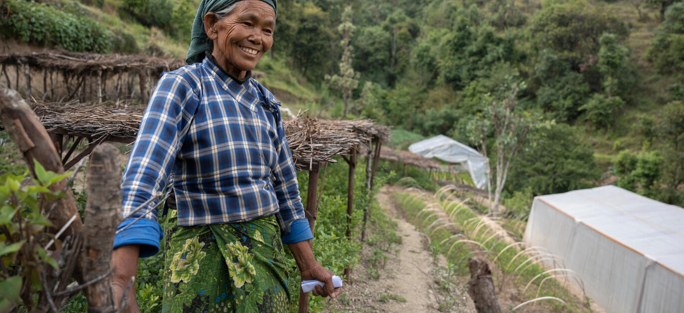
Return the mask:
[[[31,175],[36,177],[34,160],[38,161],[46,170],[57,174],[64,173],[62,160],[57,155],[53,141],[45,128],[40,124],[38,116],[31,111],[29,105],[14,90],[0,90],[0,118],[5,131],[10,134],[16,147],[21,150]],[[66,186],[66,179],[49,187],[52,191],[65,191],[64,198],[46,202],[42,210],[51,210],[49,219],[59,230],[73,216],[77,218],[70,224],[62,236],[74,236],[83,230],[83,223],[74,202],[71,189]],[[55,204],[56,202],[56,204]]]

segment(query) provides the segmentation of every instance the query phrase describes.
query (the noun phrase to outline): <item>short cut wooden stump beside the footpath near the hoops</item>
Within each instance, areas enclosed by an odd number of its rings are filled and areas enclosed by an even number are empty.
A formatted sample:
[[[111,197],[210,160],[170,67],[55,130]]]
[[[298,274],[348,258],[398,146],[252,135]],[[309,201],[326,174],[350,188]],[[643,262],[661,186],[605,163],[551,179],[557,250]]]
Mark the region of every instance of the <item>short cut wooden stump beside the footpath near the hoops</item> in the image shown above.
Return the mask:
[[[494,280],[489,264],[481,258],[470,258],[468,267],[471,279],[468,281],[468,294],[475,303],[478,313],[501,313],[501,307],[494,290]]]

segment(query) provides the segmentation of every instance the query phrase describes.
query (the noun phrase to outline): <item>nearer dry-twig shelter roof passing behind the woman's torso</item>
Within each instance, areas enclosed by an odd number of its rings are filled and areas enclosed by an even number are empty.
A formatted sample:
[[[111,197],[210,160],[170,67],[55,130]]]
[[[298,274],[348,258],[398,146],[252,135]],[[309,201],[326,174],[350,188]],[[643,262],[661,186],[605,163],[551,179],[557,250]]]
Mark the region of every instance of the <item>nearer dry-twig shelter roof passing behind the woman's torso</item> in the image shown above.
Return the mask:
[[[50,133],[86,137],[90,141],[135,140],[145,106],[107,108],[77,103],[29,103]],[[298,117],[285,121],[285,134],[295,166],[311,169],[321,162],[336,162],[335,155],[352,154],[373,136],[389,137],[389,127],[371,120],[320,120]]]

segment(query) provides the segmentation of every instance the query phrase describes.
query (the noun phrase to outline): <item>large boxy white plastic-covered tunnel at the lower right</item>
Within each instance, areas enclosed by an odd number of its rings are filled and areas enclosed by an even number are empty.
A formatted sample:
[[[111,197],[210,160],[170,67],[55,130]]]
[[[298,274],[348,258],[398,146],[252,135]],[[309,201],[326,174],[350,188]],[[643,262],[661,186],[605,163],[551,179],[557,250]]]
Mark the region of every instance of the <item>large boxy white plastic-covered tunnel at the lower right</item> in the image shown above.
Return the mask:
[[[542,195],[524,240],[560,256],[607,312],[684,312],[679,206],[615,186]]]

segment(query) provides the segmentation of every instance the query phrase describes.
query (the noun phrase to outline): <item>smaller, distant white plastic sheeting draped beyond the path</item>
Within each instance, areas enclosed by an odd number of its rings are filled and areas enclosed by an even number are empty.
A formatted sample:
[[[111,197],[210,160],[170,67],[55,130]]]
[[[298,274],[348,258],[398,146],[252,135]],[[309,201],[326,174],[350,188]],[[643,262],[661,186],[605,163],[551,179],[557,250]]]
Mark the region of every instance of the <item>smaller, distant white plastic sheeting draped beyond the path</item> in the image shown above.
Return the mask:
[[[461,144],[445,135],[418,141],[408,146],[408,150],[426,158],[437,158],[449,163],[464,163],[473,178],[475,187],[484,189],[487,185],[487,159],[477,150]]]

